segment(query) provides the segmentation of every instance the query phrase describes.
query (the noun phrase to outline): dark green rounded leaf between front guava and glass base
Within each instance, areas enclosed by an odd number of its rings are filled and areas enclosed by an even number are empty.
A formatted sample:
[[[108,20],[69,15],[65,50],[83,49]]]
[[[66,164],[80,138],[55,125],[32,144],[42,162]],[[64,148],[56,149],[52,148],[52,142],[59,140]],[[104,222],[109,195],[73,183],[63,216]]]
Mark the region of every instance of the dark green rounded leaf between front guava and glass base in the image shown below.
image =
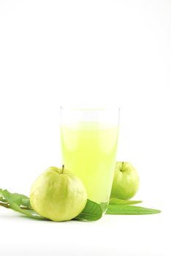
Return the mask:
[[[74,219],[95,221],[102,218],[102,208],[98,203],[87,200],[86,206],[83,211]]]

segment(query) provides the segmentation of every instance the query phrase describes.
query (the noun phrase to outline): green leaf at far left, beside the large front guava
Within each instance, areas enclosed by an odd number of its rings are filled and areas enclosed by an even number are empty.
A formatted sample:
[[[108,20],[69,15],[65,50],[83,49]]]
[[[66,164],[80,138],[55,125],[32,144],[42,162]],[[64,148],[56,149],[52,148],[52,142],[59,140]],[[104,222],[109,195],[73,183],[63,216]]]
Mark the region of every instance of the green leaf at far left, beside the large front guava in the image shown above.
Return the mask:
[[[26,195],[10,193],[7,189],[1,189],[0,192],[3,198],[7,200],[7,203],[4,203],[4,207],[11,208],[14,211],[20,212],[20,214],[24,214],[34,219],[45,219],[30,208],[30,201]],[[1,206],[3,206],[2,203]]]

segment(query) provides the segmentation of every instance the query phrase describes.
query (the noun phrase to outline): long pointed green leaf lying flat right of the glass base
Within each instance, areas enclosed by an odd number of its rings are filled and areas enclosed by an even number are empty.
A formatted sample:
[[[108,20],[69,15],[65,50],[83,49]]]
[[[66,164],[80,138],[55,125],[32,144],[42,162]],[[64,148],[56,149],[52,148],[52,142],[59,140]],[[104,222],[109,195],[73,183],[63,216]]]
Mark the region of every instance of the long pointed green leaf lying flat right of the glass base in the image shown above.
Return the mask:
[[[159,214],[160,212],[140,206],[109,205],[105,214]]]

